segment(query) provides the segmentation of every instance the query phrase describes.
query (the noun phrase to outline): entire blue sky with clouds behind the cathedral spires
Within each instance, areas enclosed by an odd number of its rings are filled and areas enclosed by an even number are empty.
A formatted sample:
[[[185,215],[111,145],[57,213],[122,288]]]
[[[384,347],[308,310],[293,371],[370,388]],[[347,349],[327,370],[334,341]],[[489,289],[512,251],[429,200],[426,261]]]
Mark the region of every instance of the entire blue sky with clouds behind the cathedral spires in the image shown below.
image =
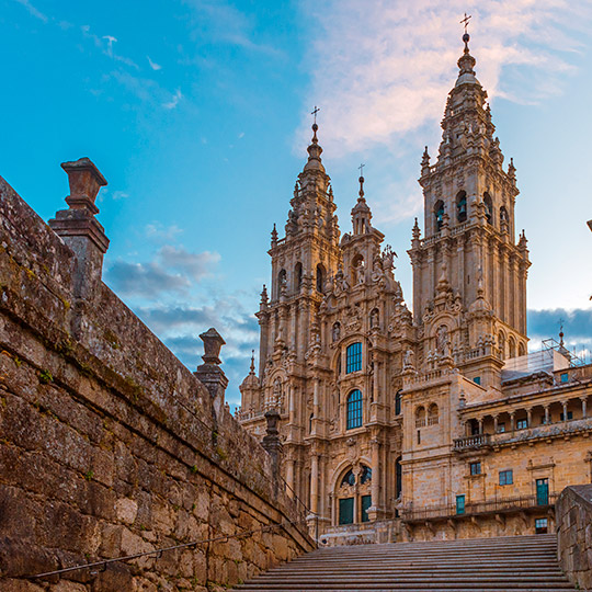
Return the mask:
[[[440,141],[473,14],[471,53],[502,150],[517,167],[530,239],[532,345],[592,348],[592,8],[580,0],[0,0],[0,174],[44,218],[64,207],[59,163],[90,157],[109,181],[105,282],[194,368],[215,326],[238,401],[257,346],[270,230],[282,228],[310,115],[342,231],[366,197],[406,255],[423,146]]]

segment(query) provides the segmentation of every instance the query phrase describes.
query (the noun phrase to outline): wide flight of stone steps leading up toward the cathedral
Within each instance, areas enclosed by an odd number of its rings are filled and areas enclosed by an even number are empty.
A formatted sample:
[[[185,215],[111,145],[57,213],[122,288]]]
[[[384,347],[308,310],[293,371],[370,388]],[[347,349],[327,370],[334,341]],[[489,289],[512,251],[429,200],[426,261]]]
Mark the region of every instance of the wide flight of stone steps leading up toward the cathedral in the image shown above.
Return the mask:
[[[559,569],[556,535],[318,549],[240,585],[243,592],[574,590]]]

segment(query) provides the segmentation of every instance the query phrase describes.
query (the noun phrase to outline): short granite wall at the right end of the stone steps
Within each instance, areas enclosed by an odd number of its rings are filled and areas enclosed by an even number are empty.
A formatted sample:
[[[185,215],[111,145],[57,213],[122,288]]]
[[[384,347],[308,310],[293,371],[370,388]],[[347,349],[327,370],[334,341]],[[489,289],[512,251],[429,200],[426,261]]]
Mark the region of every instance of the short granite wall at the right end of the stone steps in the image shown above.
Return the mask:
[[[592,485],[563,489],[556,522],[561,569],[579,590],[592,590]]]

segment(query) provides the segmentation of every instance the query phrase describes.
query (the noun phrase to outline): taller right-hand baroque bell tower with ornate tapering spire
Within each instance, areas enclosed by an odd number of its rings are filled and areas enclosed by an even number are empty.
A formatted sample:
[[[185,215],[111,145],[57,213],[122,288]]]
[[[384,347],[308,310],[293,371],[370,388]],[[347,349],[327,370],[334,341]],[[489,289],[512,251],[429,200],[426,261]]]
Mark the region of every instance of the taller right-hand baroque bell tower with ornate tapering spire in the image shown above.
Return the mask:
[[[413,315],[424,365],[449,361],[498,388],[503,361],[526,353],[531,263],[524,232],[515,238],[515,168],[503,168],[468,33],[463,41],[437,160],[430,164],[426,148],[421,162],[425,237],[415,220]]]

